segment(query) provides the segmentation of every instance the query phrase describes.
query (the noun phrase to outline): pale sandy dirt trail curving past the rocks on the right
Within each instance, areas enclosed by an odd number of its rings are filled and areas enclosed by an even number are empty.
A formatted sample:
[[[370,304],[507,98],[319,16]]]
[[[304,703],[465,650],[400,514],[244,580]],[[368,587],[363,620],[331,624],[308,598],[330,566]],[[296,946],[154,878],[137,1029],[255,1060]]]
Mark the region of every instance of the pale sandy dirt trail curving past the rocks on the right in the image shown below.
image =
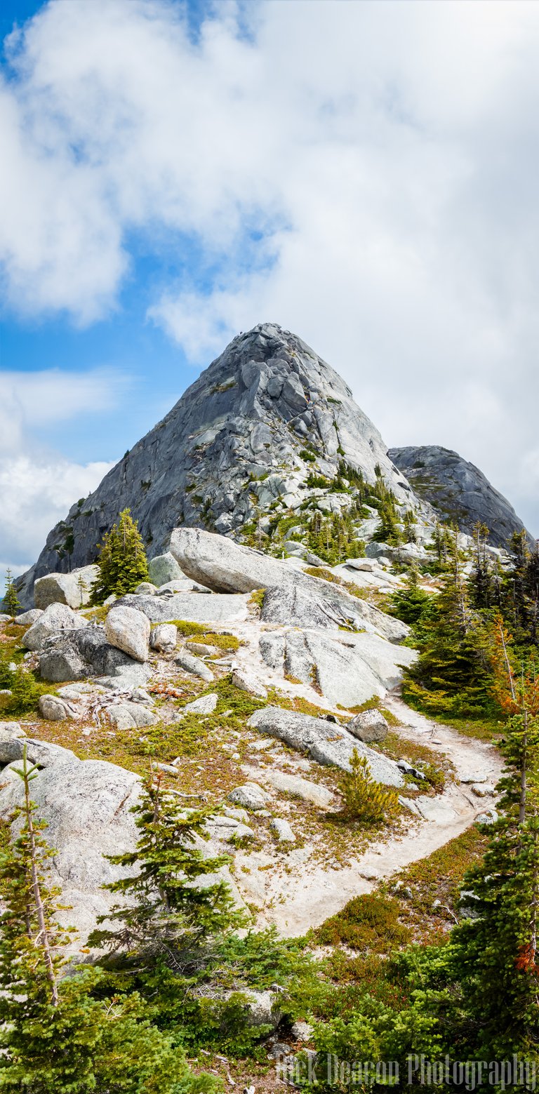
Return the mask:
[[[427,744],[452,760],[456,781],[449,782],[443,794],[423,800],[425,816],[411,817],[403,835],[379,839],[349,866],[329,869],[313,861],[313,847],[308,845],[289,852],[285,862],[276,862],[274,869],[265,852],[238,856],[238,884],[245,899],[261,908],[260,926],[274,923],[284,934],[303,934],[339,911],[351,897],[371,892],[378,880],[390,877],[459,836],[479,814],[492,807],[494,796],[488,788],[497,781],[502,770],[492,745],[462,737],[424,718],[396,695],[387,696],[384,705],[403,723],[399,734]],[[477,791],[471,783],[477,784]]]

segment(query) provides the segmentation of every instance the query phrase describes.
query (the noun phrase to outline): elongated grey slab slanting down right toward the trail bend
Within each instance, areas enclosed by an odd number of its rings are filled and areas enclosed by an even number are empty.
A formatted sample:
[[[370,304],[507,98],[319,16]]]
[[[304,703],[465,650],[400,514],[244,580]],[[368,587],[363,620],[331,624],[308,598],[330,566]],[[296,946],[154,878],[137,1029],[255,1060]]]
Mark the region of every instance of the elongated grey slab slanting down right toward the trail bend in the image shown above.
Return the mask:
[[[350,760],[355,748],[360,756],[368,760],[371,775],[377,782],[389,787],[402,787],[405,783],[394,760],[356,741],[335,722],[281,707],[265,707],[250,715],[247,725],[277,737],[296,752],[306,753],[318,764],[339,767],[342,771],[351,770]]]

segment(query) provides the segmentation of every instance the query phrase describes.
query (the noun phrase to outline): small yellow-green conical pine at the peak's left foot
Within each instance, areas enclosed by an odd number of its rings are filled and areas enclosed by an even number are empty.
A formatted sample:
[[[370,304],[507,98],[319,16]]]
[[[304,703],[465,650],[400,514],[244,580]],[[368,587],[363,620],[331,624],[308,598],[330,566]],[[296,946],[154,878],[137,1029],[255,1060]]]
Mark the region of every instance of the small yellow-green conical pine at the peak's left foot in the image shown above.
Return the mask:
[[[97,559],[99,574],[92,585],[92,604],[102,604],[112,593],[132,593],[141,581],[148,581],[148,561],[137,521],[124,509],[118,524],[104,536]]]

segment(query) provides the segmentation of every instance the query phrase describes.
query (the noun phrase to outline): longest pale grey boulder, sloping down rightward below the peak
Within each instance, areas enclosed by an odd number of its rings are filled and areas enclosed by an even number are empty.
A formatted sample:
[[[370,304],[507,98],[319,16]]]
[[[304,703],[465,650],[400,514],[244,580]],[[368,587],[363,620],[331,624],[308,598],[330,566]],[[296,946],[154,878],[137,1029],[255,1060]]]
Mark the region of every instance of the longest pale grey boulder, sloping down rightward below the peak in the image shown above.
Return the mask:
[[[261,551],[233,543],[201,528],[175,528],[171,550],[181,568],[216,593],[247,593],[274,590],[262,604],[265,622],[292,626],[351,626],[373,631],[390,642],[400,642],[409,627],[385,615],[345,589],[269,558]]]

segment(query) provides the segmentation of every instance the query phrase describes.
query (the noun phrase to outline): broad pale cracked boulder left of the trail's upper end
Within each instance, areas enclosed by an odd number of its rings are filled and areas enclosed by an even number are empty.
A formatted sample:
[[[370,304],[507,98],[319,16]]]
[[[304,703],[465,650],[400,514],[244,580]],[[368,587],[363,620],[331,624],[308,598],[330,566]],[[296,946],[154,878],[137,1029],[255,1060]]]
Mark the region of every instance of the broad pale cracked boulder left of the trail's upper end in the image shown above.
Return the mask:
[[[373,696],[384,696],[417,654],[378,635],[331,635],[325,630],[294,628],[260,635],[266,664],[284,678],[293,677],[319,688],[332,703],[355,707]]]

